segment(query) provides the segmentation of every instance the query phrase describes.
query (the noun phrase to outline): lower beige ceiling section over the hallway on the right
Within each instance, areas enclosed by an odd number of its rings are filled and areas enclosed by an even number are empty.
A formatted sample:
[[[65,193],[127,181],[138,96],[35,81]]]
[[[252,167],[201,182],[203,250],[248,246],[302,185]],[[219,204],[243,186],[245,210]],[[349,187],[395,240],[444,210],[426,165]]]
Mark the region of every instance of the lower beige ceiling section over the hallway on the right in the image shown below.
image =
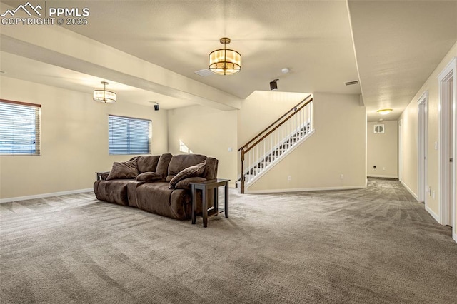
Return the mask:
[[[457,40],[457,1],[349,1],[369,121],[398,118]]]

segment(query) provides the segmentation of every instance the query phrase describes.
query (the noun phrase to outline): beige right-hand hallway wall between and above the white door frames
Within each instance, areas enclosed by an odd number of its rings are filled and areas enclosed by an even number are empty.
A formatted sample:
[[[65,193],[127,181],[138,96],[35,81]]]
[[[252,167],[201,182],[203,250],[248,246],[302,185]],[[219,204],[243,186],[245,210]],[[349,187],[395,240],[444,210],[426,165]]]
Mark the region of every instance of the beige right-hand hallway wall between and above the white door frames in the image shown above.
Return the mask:
[[[428,130],[427,130],[427,176],[426,184],[435,191],[433,196],[426,197],[426,206],[428,210],[438,216],[439,212],[439,191],[438,191],[438,149],[435,149],[435,143],[438,141],[438,122],[439,122],[439,100],[438,100],[438,74],[446,65],[457,56],[457,44],[451,48],[443,60],[438,64],[435,71],[428,77],[421,89],[416,93],[413,100],[401,114],[403,124],[403,183],[416,196],[418,195],[418,99],[422,94],[428,91]]]

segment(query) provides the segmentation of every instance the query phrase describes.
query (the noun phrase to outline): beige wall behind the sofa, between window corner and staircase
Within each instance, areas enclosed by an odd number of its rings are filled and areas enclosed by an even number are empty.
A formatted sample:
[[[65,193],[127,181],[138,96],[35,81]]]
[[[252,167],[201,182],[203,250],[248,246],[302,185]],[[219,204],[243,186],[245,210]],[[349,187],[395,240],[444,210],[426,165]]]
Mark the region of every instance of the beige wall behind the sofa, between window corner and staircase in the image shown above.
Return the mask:
[[[219,159],[218,177],[236,181],[236,111],[206,106],[169,110],[169,151],[180,154],[179,141],[196,154]],[[229,151],[231,148],[231,151]]]

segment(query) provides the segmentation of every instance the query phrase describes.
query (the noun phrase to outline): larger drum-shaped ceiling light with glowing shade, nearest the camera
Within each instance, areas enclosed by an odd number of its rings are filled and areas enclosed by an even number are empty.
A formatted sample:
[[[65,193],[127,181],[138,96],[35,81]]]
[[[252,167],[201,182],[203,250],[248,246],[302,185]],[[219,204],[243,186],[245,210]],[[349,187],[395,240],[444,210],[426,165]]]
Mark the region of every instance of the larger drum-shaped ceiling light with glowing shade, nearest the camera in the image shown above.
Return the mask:
[[[209,69],[219,75],[238,73],[241,70],[241,55],[237,51],[226,49],[226,45],[230,43],[229,38],[224,37],[219,41],[224,44],[224,49],[209,54]]]

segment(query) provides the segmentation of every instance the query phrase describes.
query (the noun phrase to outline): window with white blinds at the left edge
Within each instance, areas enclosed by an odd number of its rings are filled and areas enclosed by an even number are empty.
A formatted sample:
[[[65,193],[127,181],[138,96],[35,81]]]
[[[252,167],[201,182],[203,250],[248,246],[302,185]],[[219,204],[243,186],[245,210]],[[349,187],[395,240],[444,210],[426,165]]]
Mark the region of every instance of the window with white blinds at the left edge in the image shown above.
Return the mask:
[[[0,155],[40,156],[41,105],[0,99]]]

